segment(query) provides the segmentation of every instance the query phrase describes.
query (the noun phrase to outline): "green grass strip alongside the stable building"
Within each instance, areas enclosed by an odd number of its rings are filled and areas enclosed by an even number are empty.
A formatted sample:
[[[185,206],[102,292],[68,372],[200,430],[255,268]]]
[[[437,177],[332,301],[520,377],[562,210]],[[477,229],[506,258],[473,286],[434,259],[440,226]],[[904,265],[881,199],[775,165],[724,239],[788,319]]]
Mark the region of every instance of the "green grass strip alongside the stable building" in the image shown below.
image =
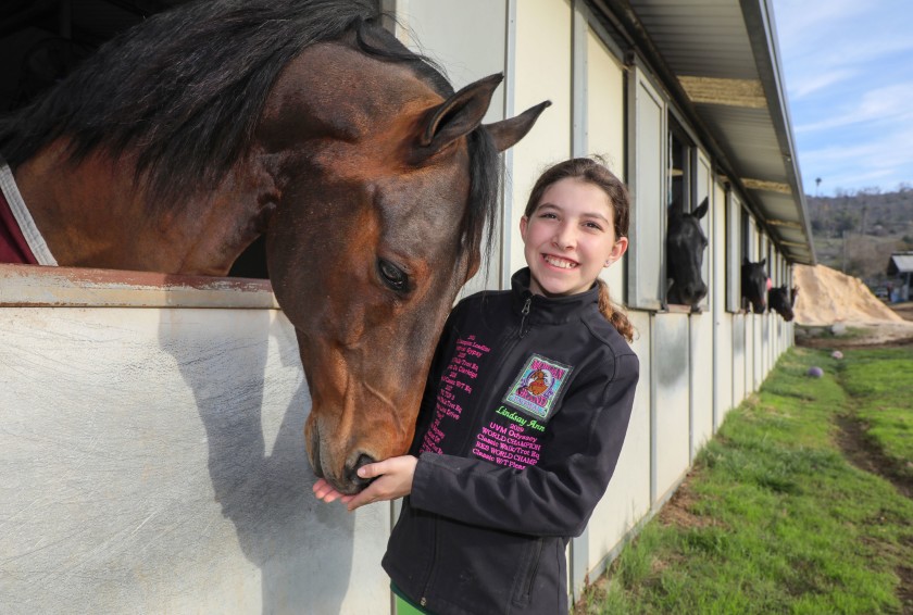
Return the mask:
[[[678,514],[648,523],[577,613],[913,612],[899,577],[913,501],[836,443],[836,418],[858,412],[873,442],[913,459],[906,352],[787,352],[700,453]]]

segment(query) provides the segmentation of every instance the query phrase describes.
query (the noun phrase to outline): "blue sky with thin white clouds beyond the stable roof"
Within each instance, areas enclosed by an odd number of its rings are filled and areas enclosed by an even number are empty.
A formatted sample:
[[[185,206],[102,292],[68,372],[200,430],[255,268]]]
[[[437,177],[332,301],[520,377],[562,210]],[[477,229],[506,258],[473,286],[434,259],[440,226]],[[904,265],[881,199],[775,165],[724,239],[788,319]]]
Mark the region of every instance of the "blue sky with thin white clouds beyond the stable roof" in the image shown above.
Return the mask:
[[[805,193],[913,187],[913,1],[773,4]]]

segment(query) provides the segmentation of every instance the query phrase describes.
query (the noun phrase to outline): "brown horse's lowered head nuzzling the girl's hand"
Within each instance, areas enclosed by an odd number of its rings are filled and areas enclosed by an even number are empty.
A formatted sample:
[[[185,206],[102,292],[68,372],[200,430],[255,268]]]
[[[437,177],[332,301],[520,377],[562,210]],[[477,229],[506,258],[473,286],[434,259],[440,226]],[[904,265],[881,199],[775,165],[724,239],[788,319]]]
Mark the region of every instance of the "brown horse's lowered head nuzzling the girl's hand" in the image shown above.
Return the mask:
[[[314,74],[321,64],[338,75]],[[366,485],[362,465],[408,450],[437,338],[480,263],[498,152],[547,105],[483,126],[500,81],[442,97],[405,66],[315,46],[279,80],[259,129],[280,194],[270,277],[312,398],[309,457],[341,492]]]

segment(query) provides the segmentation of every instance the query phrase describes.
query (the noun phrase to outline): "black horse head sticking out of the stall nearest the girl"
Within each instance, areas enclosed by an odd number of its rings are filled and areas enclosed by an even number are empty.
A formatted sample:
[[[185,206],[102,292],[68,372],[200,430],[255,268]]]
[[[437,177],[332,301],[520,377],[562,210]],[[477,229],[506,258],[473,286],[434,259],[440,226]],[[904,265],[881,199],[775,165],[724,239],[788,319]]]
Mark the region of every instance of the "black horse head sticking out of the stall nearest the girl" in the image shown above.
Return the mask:
[[[668,206],[668,233],[666,234],[668,303],[697,305],[706,294],[706,285],[701,279],[706,236],[699,221],[706,215],[708,206],[706,198],[689,214],[683,213],[677,203]]]

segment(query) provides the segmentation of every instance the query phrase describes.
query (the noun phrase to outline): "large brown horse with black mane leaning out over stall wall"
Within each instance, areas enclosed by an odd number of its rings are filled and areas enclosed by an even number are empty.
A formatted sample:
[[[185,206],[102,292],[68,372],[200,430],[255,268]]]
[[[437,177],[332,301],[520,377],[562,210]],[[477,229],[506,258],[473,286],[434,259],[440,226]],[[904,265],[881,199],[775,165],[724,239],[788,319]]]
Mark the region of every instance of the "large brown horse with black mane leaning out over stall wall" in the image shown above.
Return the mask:
[[[311,464],[342,492],[404,452],[435,341],[477,271],[498,152],[543,102],[481,125],[367,0],[216,0],[147,20],[0,124],[60,265],[225,275],[265,235],[313,407]],[[489,233],[492,226],[489,226]]]

